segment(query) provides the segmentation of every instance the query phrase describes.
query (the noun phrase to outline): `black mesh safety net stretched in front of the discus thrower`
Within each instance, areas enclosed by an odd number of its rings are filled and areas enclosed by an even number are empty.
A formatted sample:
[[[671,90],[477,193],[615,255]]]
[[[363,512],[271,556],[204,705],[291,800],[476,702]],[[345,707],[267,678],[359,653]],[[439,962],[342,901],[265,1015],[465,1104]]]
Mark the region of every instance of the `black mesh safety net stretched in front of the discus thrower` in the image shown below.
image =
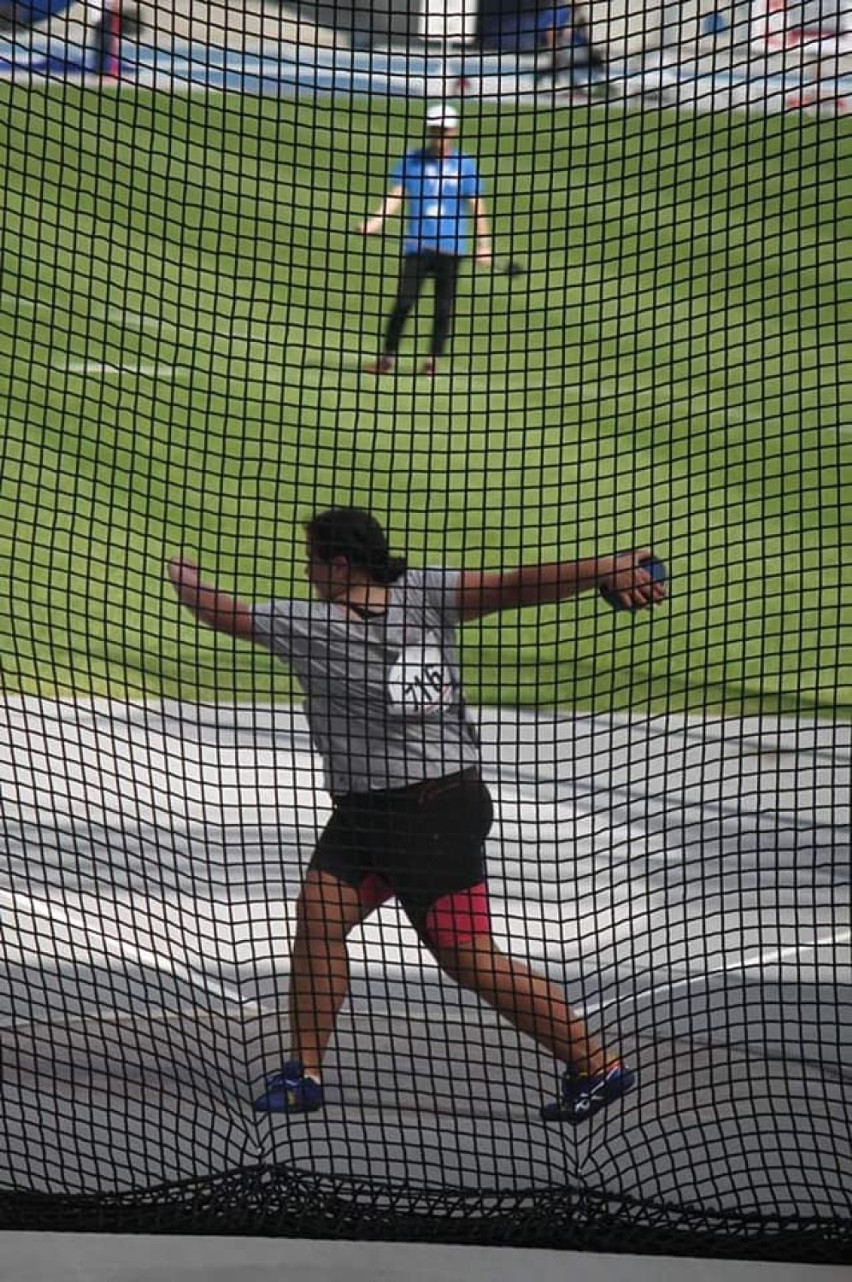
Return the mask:
[[[0,1224],[849,1261],[842,15],[49,8],[0,33]],[[488,227],[397,347],[364,224],[428,104]],[[577,1128],[393,900],[324,1109],[252,1110],[332,801],[167,562],[306,608],[332,505],[415,568],[666,563],[457,629],[495,940],[637,1073]]]

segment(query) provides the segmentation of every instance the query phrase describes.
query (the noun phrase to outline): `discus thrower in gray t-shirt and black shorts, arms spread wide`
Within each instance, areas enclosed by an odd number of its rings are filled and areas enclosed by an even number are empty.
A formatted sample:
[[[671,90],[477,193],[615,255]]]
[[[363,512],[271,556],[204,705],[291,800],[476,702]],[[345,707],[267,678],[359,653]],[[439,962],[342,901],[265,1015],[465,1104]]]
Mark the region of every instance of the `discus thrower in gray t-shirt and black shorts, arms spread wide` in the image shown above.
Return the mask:
[[[291,1059],[258,1111],[323,1106],[322,1065],[348,988],[346,937],[391,896],[441,968],[562,1065],[546,1122],[579,1123],[624,1095],[634,1074],[609,1055],[561,990],[492,936],[484,838],[492,804],[459,681],[455,631],[495,610],[561,601],[597,587],[653,606],[665,587],[648,549],[512,570],[410,569],[369,513],[336,508],[306,524],[314,600],[249,605],[169,564],[183,605],[209,627],[290,664],[322,754],[332,818],[296,910]]]

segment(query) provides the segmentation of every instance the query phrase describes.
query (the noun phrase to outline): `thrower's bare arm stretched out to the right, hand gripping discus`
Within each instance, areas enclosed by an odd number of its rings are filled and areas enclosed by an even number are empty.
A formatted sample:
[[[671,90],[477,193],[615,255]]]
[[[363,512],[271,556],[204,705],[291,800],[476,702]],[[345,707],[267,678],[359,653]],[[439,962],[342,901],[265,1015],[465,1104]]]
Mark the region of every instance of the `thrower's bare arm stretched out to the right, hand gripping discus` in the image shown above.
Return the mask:
[[[591,556],[587,560],[552,565],[463,570],[459,610],[463,619],[479,619],[495,610],[550,605],[597,587],[616,592],[621,605],[633,609],[656,605],[666,595],[665,583],[655,582],[647,569],[639,565],[641,560],[651,555],[650,547],[641,547],[616,556]]]

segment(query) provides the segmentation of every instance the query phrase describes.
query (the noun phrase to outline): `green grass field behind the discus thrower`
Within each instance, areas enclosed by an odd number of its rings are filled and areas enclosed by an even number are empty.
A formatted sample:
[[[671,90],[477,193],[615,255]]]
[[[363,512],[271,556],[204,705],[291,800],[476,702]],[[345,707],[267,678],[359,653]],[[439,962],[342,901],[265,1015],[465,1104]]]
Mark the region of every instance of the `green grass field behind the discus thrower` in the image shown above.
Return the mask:
[[[413,331],[377,385],[398,238],[350,229],[420,104],[0,106],[6,694],[288,697],[164,559],[301,594],[301,519],[356,501],[415,562],[668,560],[653,617],[470,628],[474,701],[848,718],[848,122],[469,108],[529,272],[466,279],[451,373]]]

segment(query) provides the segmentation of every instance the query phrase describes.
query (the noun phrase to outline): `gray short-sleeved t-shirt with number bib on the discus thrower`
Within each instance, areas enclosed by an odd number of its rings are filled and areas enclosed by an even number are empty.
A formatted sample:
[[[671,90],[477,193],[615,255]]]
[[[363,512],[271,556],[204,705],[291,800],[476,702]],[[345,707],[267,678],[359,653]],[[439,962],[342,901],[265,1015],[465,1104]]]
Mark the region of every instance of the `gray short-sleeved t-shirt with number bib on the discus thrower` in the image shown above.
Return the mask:
[[[457,570],[406,570],[387,610],[356,618],[328,601],[254,606],[258,641],[288,663],[334,796],[398,788],[477,765],[461,696]]]

